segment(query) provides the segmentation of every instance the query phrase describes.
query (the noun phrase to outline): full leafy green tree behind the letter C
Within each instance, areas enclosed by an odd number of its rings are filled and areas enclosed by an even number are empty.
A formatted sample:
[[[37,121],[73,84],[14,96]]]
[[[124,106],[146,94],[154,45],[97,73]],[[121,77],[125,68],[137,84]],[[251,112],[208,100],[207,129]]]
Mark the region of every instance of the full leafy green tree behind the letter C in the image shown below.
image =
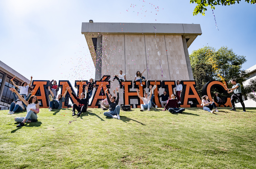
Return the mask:
[[[236,79],[242,85],[243,77],[246,76],[246,72],[241,70],[241,65],[246,62],[245,56],[236,55],[232,49],[224,46],[218,51],[206,46],[192,51],[189,58],[197,91],[201,91],[211,80],[225,81],[228,84],[231,79]],[[228,84],[229,88],[231,86]],[[201,92],[198,94],[201,96]]]

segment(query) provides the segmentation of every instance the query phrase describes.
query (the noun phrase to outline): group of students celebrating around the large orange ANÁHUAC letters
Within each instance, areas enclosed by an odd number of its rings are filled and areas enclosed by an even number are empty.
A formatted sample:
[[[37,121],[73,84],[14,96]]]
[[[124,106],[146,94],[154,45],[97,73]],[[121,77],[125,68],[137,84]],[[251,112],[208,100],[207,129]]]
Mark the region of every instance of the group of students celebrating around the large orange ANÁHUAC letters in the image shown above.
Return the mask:
[[[143,73],[144,73],[144,71],[143,71]],[[12,94],[13,94],[14,102],[12,102],[12,104],[10,105],[9,114],[14,114],[15,112],[23,111],[26,109],[27,113],[26,113],[25,117],[15,117],[15,121],[20,123],[17,125],[17,127],[21,127],[25,124],[25,122],[36,122],[37,121],[37,114],[39,113],[39,104],[38,104],[37,97],[31,96],[31,93],[34,92],[33,90],[31,91],[30,94],[28,94],[29,87],[31,87],[30,85],[32,82],[32,76],[31,76],[31,81],[29,84],[27,84],[26,82],[23,82],[21,84],[21,86],[18,86],[13,82],[14,78],[12,78],[11,81],[15,87],[18,87],[20,89],[20,93],[18,93],[17,90],[15,90],[14,88],[10,88],[10,90],[12,91]],[[114,75],[113,80],[115,80],[115,79],[117,79],[119,81],[119,83],[120,83],[119,85],[121,85],[121,83],[126,80],[125,74],[122,73],[122,70],[120,70],[119,75]],[[135,81],[140,81],[140,85],[142,85],[143,79],[145,80],[145,77],[142,76],[142,73],[140,73],[140,71],[137,71],[137,73],[135,75]],[[53,84],[52,84],[52,82],[53,82]],[[153,106],[157,107],[157,105],[153,102],[154,90],[157,88],[156,82],[157,82],[157,80],[155,80],[154,86],[149,85],[148,92],[146,92],[146,90],[144,89],[144,91],[145,91],[143,94],[144,97],[141,97],[139,94],[139,90],[136,89],[137,96],[143,101],[143,104],[140,104],[140,108],[141,108],[140,111],[145,111],[145,109],[150,111],[150,109]],[[231,83],[233,84],[233,87],[230,89],[227,89],[228,93],[234,92],[234,94],[231,96],[231,103],[232,103],[231,110],[236,111],[235,100],[239,99],[239,101],[242,104],[243,111],[245,112],[246,110],[245,110],[244,102],[241,97],[242,96],[241,95],[241,85],[239,83],[236,83],[235,80],[231,80]],[[61,109],[62,108],[62,104],[65,101],[65,96],[67,94],[67,91],[69,90],[70,93],[73,95],[73,97],[79,103],[79,105],[73,104],[72,116],[74,116],[74,115],[80,116],[82,113],[87,111],[89,99],[92,96],[94,87],[96,87],[96,84],[95,84],[95,82],[93,82],[93,79],[91,78],[89,80],[88,84],[85,86],[86,94],[81,93],[80,98],[77,97],[76,94],[72,92],[71,87],[67,87],[63,95],[59,94],[57,96],[59,87],[57,85],[57,82],[52,80],[48,87],[48,89],[49,89],[49,111],[52,111],[52,109]],[[180,94],[183,89],[182,85],[180,84],[180,81],[177,81],[177,85],[174,89],[175,89],[176,94],[172,94],[171,98],[169,97],[169,95],[167,94],[166,91],[164,91],[163,94],[161,96],[159,96],[159,98],[160,97],[162,98],[161,106],[164,107],[163,111],[169,110],[170,113],[182,113],[185,109],[179,108]],[[105,90],[105,94],[106,94],[107,98],[101,102],[101,105],[102,105],[103,110],[108,110],[108,109],[109,110],[104,112],[103,114],[107,117],[120,119],[120,115],[119,115],[120,114],[120,106],[118,105],[118,103],[119,103],[118,87],[116,87],[116,90],[113,90],[113,93],[115,96],[112,96],[111,93],[108,93],[108,89]],[[157,93],[159,94],[159,91]],[[212,99],[212,101],[209,100],[209,97],[207,95],[203,96],[202,97],[203,110],[209,111],[211,113],[214,113],[215,111],[218,112],[215,102],[217,102],[219,104],[219,106],[221,104],[224,105],[222,99],[218,97],[218,93],[215,93],[215,97],[214,97],[214,99]],[[166,105],[164,106],[164,104],[166,104]],[[77,114],[76,114],[76,110],[78,112]]]

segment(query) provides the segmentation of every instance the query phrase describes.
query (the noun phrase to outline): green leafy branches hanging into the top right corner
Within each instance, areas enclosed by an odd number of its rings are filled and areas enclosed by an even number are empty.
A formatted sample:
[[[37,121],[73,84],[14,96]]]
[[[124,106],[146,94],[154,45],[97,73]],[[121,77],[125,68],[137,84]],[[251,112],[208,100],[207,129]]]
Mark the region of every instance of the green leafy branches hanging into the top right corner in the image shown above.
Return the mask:
[[[217,5],[233,5],[236,2],[239,3],[241,0],[190,0],[190,3],[196,3],[195,9],[193,11],[193,15],[197,15],[201,13],[205,15],[205,11],[207,11],[207,6],[211,6],[212,9],[215,9]],[[255,4],[256,0],[245,0],[247,3]]]

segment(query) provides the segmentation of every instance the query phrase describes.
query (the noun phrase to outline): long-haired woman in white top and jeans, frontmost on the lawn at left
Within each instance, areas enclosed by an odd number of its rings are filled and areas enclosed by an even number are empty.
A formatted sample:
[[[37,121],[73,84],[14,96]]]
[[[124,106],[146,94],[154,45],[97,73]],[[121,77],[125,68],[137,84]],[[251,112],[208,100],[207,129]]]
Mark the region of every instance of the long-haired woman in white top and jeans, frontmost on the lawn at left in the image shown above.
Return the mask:
[[[12,88],[12,91],[14,93],[17,94],[17,96],[20,98],[21,101],[23,101],[23,103],[26,104],[26,117],[15,117],[14,120],[16,122],[19,122],[20,124],[18,124],[16,127],[21,127],[24,126],[26,122],[37,122],[37,114],[39,113],[39,104],[38,104],[38,99],[36,96],[31,96],[29,98],[29,101],[26,101],[25,99],[23,99],[23,97],[17,92],[17,90],[15,90],[14,88]]]

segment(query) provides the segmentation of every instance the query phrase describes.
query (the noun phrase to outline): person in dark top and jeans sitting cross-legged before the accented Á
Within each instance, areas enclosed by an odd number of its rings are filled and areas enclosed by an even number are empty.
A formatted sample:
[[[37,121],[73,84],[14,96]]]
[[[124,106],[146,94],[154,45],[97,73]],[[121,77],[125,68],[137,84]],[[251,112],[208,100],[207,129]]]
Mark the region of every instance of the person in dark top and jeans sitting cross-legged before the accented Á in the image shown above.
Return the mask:
[[[118,105],[119,102],[119,93],[118,93],[118,87],[116,87],[116,92],[117,92],[117,98],[116,97],[111,97],[111,99],[108,99],[108,104],[109,104],[109,111],[104,112],[103,114],[107,117],[111,118],[116,118],[120,119],[120,106]],[[105,90],[105,94],[108,94],[108,89]]]

